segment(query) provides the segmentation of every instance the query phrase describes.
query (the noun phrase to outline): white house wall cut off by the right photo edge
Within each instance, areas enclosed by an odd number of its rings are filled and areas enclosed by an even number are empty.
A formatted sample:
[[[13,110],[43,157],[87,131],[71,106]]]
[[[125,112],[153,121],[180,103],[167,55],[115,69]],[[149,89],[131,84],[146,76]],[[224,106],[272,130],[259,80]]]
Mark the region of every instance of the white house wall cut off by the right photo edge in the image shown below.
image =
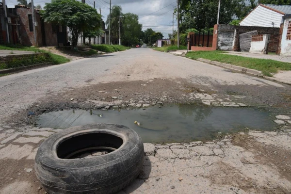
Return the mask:
[[[291,56],[291,18],[284,21],[280,55]]]

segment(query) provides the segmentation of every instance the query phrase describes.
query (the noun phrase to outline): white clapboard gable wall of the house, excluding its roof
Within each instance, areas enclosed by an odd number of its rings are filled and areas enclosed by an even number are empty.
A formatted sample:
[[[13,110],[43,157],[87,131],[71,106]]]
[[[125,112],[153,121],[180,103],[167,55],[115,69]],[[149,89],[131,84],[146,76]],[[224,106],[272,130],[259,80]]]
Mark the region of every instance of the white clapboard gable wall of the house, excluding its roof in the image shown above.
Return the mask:
[[[241,21],[240,25],[280,28],[282,16],[282,14],[258,5],[257,8]],[[274,22],[274,26],[272,22]]]

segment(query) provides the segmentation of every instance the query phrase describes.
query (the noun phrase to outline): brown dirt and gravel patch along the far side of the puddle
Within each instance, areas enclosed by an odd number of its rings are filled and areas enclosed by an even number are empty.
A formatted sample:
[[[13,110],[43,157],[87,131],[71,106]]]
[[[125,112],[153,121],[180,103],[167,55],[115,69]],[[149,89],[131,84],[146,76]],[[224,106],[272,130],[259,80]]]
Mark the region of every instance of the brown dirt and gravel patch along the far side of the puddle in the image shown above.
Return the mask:
[[[86,82],[90,81],[87,80]],[[201,91],[196,89],[191,83],[182,79],[99,83],[82,88],[68,89],[58,95],[48,95],[40,99],[37,103],[34,103],[29,109],[13,115],[10,118],[10,122],[34,125],[33,118],[35,115],[69,109],[104,109],[106,105],[113,105],[118,100],[127,103],[131,101],[138,103],[142,100],[144,104],[148,104],[149,106],[163,106],[167,103],[196,102],[197,100],[186,97],[186,94],[189,92]],[[207,93],[208,91],[203,92]],[[211,93],[212,91],[209,92]],[[96,103],[99,105],[96,105]],[[124,105],[120,108],[132,109],[140,107]]]

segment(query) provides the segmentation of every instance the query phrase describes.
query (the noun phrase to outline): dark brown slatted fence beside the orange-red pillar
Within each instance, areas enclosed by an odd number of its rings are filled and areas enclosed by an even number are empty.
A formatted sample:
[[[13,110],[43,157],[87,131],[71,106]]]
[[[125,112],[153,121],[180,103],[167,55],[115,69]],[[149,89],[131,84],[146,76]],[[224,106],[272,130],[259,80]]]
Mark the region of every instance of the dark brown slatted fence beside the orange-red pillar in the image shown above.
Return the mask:
[[[210,35],[210,31],[198,32],[190,35],[190,46],[195,47],[212,47],[213,35]]]

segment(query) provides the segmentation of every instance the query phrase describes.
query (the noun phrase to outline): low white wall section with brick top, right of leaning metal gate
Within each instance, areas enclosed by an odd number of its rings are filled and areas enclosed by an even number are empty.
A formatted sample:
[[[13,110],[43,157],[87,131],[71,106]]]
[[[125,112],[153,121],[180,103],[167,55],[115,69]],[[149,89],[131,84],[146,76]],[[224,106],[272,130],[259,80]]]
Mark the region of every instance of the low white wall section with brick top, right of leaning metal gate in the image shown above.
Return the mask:
[[[270,34],[252,36],[251,53],[267,54]]]

